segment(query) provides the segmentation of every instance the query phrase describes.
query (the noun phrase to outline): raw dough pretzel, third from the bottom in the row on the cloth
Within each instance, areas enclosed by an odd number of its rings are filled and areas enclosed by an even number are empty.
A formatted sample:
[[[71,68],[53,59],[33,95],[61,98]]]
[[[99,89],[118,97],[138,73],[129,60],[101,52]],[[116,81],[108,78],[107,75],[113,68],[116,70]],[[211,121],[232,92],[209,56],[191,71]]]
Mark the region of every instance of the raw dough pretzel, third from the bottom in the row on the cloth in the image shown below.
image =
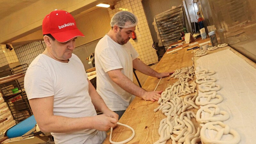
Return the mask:
[[[206,98],[206,101],[200,101],[200,98]],[[202,95],[196,97],[196,105],[205,106],[209,104],[218,104],[223,101],[223,97],[218,95],[217,92],[204,92]]]

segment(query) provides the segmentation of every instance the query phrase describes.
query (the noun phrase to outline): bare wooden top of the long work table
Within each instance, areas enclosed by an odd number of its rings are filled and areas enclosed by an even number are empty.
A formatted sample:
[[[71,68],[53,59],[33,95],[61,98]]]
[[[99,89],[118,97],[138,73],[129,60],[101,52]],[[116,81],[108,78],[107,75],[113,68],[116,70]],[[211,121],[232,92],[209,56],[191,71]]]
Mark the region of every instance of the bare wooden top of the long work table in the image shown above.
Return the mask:
[[[202,40],[196,40],[199,44],[209,41],[209,38]],[[194,42],[192,42],[194,43]],[[191,43],[190,43],[191,44]],[[155,70],[158,72],[166,72],[166,71],[174,71],[176,69],[180,69],[182,67],[188,67],[193,65],[192,57],[194,58],[194,65],[196,64],[196,60],[200,57],[193,56],[191,52],[193,50],[188,50],[188,48],[199,46],[199,44],[188,46],[183,49],[178,50],[176,53],[165,53],[163,58],[159,61]],[[184,46],[184,45],[183,45]],[[174,48],[175,49],[175,48]],[[236,53],[239,57],[246,60],[249,64],[251,64],[254,68],[256,68],[256,64],[251,60],[247,59],[240,53],[233,50],[231,47],[227,46],[221,49],[217,49],[214,51],[208,51],[208,54],[231,49],[232,52]],[[171,49],[173,50],[173,49]],[[168,52],[168,51],[167,51]],[[172,54],[173,53],[173,54]],[[157,83],[160,79],[149,76],[142,88],[147,91],[154,91]],[[167,86],[175,83],[178,79],[173,79],[169,77],[164,77],[160,81],[156,91],[164,91]],[[185,97],[185,96],[184,96]],[[134,138],[129,141],[127,144],[153,144],[159,139],[158,129],[160,121],[166,116],[161,113],[161,111],[154,112],[153,110],[157,108],[159,105],[157,102],[145,101],[139,97],[136,97],[132,103],[129,105],[124,115],[119,120],[120,123],[131,126],[135,131]],[[197,109],[191,109],[195,113]],[[197,128],[199,124],[195,121],[195,118],[192,119],[192,122],[195,124]],[[129,138],[132,135],[132,131],[129,128],[124,126],[117,125],[113,130],[112,141],[123,141]],[[107,139],[104,141],[104,144],[109,144],[109,133]],[[166,144],[171,144],[172,140],[168,140]]]

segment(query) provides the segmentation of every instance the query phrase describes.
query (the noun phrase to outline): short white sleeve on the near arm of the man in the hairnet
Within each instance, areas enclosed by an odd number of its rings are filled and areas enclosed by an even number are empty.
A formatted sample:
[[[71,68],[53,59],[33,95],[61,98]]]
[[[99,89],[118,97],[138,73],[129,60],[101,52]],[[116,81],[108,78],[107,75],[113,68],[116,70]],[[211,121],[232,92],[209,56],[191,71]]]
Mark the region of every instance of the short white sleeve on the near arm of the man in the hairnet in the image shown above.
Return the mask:
[[[116,50],[110,47],[107,47],[101,51],[98,62],[100,63],[105,72],[113,69],[123,68]]]

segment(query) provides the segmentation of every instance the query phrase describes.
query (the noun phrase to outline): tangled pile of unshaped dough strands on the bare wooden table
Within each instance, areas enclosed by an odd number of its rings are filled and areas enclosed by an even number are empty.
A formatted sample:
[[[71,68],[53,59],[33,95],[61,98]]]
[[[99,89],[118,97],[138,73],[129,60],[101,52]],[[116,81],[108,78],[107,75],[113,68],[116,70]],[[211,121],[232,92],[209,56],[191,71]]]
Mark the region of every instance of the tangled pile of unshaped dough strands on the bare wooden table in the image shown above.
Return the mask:
[[[195,104],[196,83],[188,83],[195,76],[194,67],[185,67],[175,70],[172,76],[179,79],[178,82],[170,85],[161,94],[158,100],[158,106],[154,112],[161,110],[167,116],[160,122],[158,134],[159,140],[154,144],[165,144],[167,140],[172,139],[172,143],[197,143],[200,139],[200,128],[196,130],[191,119],[196,117],[192,111],[185,112],[188,109],[199,109]],[[187,95],[184,98],[181,97]],[[174,135],[177,135],[174,137]]]

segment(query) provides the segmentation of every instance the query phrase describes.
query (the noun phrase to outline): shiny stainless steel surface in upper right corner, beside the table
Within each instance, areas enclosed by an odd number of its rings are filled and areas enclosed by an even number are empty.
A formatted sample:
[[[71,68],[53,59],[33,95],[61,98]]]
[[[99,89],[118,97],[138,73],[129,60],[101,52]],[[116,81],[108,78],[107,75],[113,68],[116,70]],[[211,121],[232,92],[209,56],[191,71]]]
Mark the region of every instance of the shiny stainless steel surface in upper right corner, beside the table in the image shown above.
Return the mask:
[[[207,26],[215,26],[219,43],[228,43],[236,51],[256,62],[256,1],[200,0]],[[223,33],[220,31],[223,29]],[[219,33],[218,33],[219,32]]]

